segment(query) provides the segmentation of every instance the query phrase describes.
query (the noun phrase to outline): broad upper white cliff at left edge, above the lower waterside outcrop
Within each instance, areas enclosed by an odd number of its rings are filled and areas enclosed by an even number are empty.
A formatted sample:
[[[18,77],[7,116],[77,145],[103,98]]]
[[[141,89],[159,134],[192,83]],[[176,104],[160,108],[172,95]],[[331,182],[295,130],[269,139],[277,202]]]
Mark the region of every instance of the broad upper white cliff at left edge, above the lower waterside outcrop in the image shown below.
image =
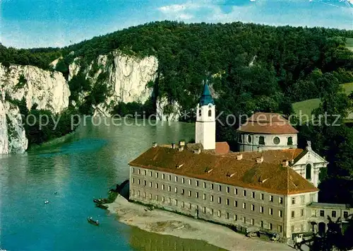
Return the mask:
[[[18,85],[20,76],[27,83]],[[37,110],[59,113],[68,107],[70,90],[64,76],[57,71],[44,71],[35,66],[0,64],[0,90],[13,100],[25,98],[30,110],[37,104]]]

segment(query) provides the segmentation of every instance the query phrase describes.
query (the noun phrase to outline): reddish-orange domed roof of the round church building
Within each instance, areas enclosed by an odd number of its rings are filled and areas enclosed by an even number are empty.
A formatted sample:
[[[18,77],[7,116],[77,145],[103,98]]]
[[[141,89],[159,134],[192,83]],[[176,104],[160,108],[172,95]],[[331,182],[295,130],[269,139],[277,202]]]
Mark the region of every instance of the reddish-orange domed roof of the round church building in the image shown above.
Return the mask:
[[[256,112],[237,129],[256,134],[297,134],[288,120],[277,113]]]

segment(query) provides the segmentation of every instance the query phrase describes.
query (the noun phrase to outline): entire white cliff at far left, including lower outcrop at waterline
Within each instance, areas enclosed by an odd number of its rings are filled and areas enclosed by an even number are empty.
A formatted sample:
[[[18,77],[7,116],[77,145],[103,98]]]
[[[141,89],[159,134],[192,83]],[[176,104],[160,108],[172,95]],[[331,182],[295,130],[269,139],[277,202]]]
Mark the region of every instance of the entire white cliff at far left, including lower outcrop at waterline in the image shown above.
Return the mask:
[[[20,77],[23,78],[20,83]],[[70,90],[59,72],[44,71],[35,66],[0,64],[0,154],[23,153],[28,147],[20,110],[5,100],[25,98],[28,110],[37,109],[62,112],[68,107]]]

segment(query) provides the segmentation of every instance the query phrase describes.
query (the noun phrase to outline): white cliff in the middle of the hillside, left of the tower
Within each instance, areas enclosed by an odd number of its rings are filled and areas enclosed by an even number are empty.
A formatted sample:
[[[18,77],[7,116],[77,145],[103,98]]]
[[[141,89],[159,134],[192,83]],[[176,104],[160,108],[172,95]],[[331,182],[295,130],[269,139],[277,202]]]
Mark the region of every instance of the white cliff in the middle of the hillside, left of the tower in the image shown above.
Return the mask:
[[[74,59],[73,63],[68,67],[70,80],[80,71],[78,64],[79,58]],[[94,71],[93,64],[97,64],[97,71]],[[126,56],[118,50],[109,55],[100,55],[95,62],[92,62],[85,71],[86,78],[90,79],[95,85],[100,74],[107,74],[104,79],[107,84],[109,93],[105,103],[97,105],[95,108],[95,116],[110,116],[110,111],[114,105],[119,102],[140,102],[145,103],[152,95],[152,88],[148,88],[149,81],[155,81],[157,76],[158,60],[156,57],[138,57]],[[82,98],[82,97],[81,97]]]

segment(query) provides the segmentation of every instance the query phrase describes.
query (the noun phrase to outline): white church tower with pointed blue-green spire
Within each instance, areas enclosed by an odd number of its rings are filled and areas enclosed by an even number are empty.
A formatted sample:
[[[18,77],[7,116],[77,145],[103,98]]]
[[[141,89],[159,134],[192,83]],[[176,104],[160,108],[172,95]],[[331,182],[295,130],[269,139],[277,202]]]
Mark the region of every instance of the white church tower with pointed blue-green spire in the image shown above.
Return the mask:
[[[203,86],[203,94],[196,110],[195,142],[201,143],[205,150],[216,147],[215,101],[207,83]]]

